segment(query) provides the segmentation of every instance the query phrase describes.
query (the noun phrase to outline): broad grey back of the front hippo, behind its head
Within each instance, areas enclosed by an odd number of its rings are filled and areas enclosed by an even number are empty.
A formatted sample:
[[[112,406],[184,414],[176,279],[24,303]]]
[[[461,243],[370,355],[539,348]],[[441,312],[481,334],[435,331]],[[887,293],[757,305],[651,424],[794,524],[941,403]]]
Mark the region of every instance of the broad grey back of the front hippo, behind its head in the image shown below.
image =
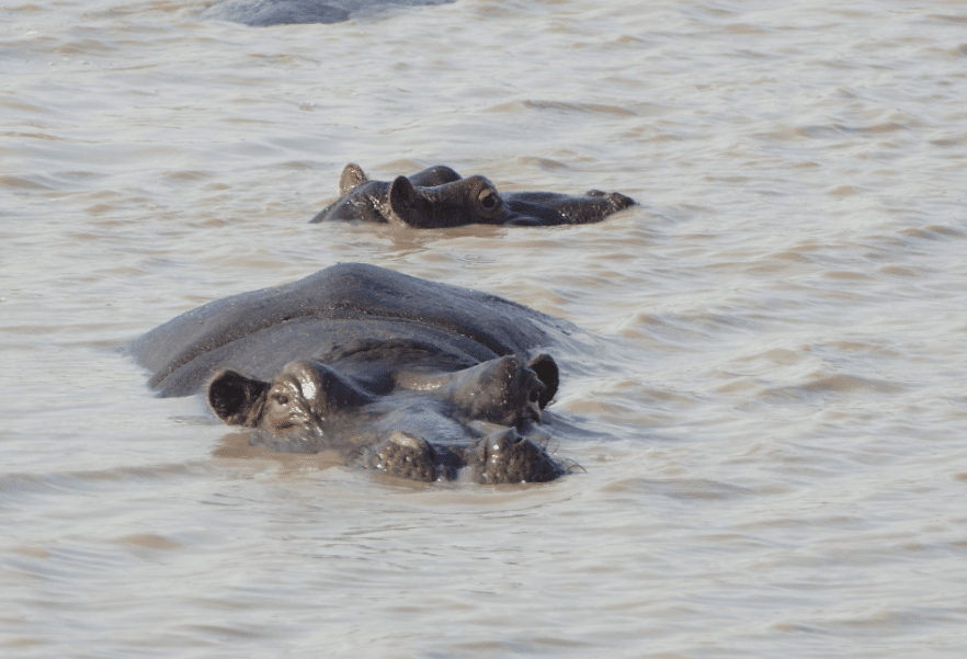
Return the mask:
[[[494,295],[344,263],[187,311],[129,352],[161,396],[187,396],[223,368],[271,378],[292,360],[362,344],[423,346],[455,368],[559,344],[574,331]]]

